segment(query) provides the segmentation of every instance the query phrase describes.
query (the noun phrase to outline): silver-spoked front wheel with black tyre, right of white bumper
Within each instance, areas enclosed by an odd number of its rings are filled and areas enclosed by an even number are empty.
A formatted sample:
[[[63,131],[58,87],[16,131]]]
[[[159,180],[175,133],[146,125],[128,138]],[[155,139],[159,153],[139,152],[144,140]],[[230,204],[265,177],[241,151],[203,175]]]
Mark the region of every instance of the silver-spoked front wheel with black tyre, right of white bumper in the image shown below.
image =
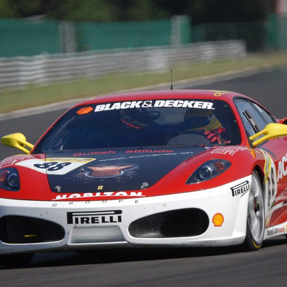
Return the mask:
[[[259,175],[252,173],[252,183],[248,200],[246,237],[243,247],[246,251],[258,250],[264,238],[265,209],[262,184]]]

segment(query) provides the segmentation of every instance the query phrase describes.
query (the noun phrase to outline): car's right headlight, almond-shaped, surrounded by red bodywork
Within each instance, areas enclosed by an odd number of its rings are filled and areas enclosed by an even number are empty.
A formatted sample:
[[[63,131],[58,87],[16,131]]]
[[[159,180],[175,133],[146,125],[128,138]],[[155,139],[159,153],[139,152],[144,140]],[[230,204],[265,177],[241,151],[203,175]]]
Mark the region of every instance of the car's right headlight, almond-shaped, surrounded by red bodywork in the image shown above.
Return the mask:
[[[201,183],[220,175],[231,166],[225,159],[211,159],[201,165],[187,180],[186,184]]]

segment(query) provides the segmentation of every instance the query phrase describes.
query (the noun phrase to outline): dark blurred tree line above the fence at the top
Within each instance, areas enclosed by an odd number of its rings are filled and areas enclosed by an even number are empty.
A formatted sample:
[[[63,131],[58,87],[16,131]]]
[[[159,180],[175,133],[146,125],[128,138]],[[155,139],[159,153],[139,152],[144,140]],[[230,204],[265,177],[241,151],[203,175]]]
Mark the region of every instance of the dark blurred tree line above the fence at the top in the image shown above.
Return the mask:
[[[264,21],[275,0],[0,0],[0,18],[149,21],[189,15],[192,24]]]

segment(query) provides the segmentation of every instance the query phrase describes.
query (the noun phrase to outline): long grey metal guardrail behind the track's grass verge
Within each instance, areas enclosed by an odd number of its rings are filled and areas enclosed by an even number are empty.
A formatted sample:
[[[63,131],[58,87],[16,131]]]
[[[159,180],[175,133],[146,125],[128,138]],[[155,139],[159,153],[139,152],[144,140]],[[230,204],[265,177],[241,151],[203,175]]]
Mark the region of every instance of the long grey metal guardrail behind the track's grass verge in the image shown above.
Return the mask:
[[[30,57],[0,58],[0,90],[23,88],[31,83],[49,83],[100,77],[115,72],[157,71],[195,61],[243,57],[243,41],[216,41],[179,47],[115,49]]]

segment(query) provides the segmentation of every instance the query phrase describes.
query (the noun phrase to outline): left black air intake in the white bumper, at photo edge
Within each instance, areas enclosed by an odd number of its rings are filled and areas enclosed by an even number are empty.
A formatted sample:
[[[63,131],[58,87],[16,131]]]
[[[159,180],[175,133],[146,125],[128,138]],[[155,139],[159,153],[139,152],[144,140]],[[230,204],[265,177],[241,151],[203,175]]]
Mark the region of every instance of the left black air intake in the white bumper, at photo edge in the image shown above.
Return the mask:
[[[0,240],[4,243],[52,242],[64,236],[64,229],[48,220],[16,215],[0,218]]]

